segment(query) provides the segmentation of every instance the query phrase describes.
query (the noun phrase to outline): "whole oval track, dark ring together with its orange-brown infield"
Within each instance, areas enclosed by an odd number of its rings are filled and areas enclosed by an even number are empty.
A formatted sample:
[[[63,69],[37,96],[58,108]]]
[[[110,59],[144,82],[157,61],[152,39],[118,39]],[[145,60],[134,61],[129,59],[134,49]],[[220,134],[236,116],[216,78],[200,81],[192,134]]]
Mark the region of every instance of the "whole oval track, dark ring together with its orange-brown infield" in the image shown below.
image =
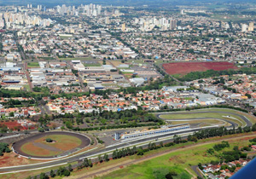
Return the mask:
[[[51,138],[55,142],[46,142]],[[30,136],[13,144],[15,153],[28,158],[54,159],[74,153],[90,145],[87,136],[71,132],[46,132]]]

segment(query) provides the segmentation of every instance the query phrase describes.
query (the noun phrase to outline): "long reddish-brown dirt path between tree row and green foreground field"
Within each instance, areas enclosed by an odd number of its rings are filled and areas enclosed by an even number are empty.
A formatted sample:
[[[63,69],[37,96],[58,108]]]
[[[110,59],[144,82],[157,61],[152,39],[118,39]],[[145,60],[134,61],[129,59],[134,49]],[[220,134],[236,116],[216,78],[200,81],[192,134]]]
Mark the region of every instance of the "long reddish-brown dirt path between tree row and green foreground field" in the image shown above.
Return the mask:
[[[91,171],[91,172],[86,172],[82,175],[68,177],[68,178],[69,179],[71,179],[71,178],[84,179],[84,178],[95,178],[96,176],[105,176],[108,173],[113,172],[114,170],[119,170],[119,169],[121,169],[123,167],[126,167],[126,166],[129,166],[129,165],[135,165],[135,164],[138,164],[138,163],[142,163],[142,162],[147,161],[149,159],[154,159],[154,158],[166,155],[168,153],[172,153],[174,151],[175,152],[183,151],[183,150],[188,150],[189,148],[193,148],[193,147],[201,147],[201,146],[206,145],[206,144],[216,143],[218,141],[224,141],[224,140],[225,141],[232,141],[232,140],[237,140],[237,139],[242,139],[242,138],[245,138],[245,137],[252,137],[252,136],[256,136],[256,133],[251,134],[251,135],[244,135],[244,136],[220,138],[220,139],[215,140],[215,141],[204,141],[204,142],[201,142],[201,143],[191,144],[191,145],[189,145],[187,147],[183,147],[183,148],[172,148],[172,149],[160,152],[160,153],[154,153],[154,154],[148,155],[146,157],[143,157],[142,159],[133,159],[133,160],[129,159],[126,162],[123,162],[121,164],[119,163],[119,164],[116,164],[116,165],[109,165],[109,167],[104,168],[104,170],[98,169],[98,170],[94,170],[94,171]],[[191,171],[189,171],[188,169],[185,169],[185,170],[187,170],[190,175],[195,177],[195,174],[193,174]]]

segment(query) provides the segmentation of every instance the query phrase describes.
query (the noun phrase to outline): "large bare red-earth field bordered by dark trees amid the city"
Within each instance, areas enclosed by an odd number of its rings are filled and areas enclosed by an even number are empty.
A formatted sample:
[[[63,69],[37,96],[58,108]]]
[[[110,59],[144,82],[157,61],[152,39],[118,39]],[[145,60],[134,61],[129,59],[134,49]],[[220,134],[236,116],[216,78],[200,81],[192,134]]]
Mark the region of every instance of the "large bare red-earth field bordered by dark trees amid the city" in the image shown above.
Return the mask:
[[[168,74],[187,74],[189,72],[205,72],[207,70],[222,71],[238,69],[230,62],[178,62],[163,64]]]

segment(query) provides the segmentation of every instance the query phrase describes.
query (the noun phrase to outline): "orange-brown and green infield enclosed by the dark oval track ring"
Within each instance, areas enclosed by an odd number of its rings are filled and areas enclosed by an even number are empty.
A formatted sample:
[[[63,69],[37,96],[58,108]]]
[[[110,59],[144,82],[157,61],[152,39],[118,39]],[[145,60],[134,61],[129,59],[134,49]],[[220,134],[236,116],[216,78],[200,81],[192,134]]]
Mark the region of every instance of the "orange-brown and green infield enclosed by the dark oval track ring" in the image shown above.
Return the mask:
[[[55,142],[46,142],[45,139],[50,138],[54,140]],[[35,145],[35,143],[41,143],[45,146],[49,147],[55,147],[56,150],[50,150],[46,147],[38,147],[38,145]],[[31,141],[23,146],[21,146],[21,150],[23,153],[27,153],[29,155],[33,156],[43,156],[43,157],[49,157],[49,156],[55,156],[59,155],[65,151],[71,150],[73,148],[79,147],[81,145],[82,141],[75,137],[75,136],[67,136],[67,135],[49,135],[46,137],[41,137],[36,141]]]

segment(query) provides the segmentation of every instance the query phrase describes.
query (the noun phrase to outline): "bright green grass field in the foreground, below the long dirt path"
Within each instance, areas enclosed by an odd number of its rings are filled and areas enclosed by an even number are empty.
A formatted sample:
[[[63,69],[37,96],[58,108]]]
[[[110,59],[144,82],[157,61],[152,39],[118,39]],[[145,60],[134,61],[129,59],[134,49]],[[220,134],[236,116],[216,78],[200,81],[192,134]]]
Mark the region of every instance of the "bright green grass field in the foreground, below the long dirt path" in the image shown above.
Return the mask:
[[[255,136],[254,136],[255,137]],[[253,137],[252,137],[253,138]],[[228,140],[230,142],[230,147],[224,149],[225,151],[232,150],[234,146],[245,147],[249,144],[249,137],[240,138],[236,140]],[[220,142],[217,142],[220,143]],[[194,170],[190,166],[210,163],[211,160],[218,160],[214,155],[207,154],[207,149],[213,147],[215,143],[210,144],[200,144],[196,147],[185,147],[180,148],[178,151],[170,152],[168,154],[162,155],[160,157],[149,159],[143,163],[137,165],[130,165],[124,169],[113,171],[112,173],[98,177],[104,179],[149,179],[149,178],[165,178],[164,176],[173,170],[177,172],[177,178],[191,178],[195,176]],[[224,151],[223,150],[223,151]],[[221,151],[221,152],[223,152]],[[219,152],[219,153],[221,153]],[[255,154],[255,152],[250,153]]]

